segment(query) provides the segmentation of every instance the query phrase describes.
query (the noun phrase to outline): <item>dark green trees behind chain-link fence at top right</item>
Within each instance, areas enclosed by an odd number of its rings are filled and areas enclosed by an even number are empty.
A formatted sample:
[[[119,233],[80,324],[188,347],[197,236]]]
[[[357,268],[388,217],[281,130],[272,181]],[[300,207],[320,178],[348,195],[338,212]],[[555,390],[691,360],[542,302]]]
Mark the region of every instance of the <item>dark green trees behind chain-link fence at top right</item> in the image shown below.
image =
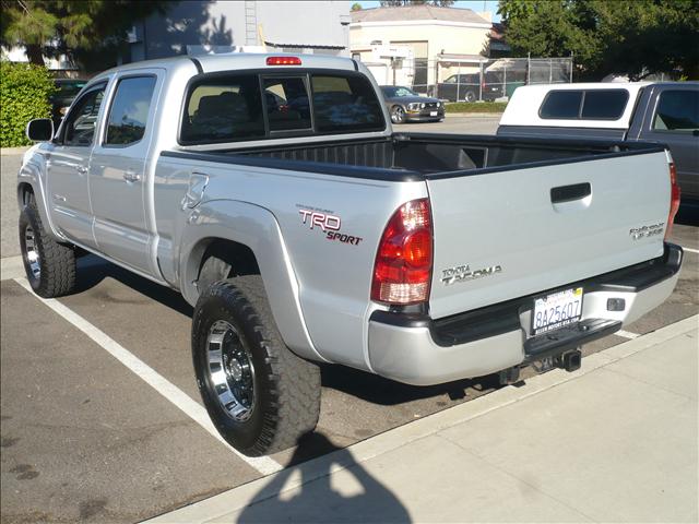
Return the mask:
[[[500,0],[516,55],[571,52],[580,74],[699,78],[699,0]]]

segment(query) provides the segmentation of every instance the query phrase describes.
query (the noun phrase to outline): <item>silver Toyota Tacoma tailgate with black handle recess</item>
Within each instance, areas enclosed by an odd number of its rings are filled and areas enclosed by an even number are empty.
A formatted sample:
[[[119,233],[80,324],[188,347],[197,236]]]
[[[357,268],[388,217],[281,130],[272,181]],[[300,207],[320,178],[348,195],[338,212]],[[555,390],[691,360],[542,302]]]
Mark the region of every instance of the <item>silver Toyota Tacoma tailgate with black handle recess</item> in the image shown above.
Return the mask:
[[[664,152],[438,175],[427,186],[435,234],[434,319],[663,253],[671,191]],[[635,239],[629,233],[659,224],[662,233],[649,237]]]

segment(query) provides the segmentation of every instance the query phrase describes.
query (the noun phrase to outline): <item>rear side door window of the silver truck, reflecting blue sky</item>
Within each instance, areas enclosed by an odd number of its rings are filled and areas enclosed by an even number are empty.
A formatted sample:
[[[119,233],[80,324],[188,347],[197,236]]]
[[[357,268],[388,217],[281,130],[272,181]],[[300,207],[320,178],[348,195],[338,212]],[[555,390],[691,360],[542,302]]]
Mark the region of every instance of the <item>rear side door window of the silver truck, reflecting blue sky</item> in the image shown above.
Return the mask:
[[[134,76],[119,81],[107,118],[105,145],[129,145],[145,133],[155,76]]]

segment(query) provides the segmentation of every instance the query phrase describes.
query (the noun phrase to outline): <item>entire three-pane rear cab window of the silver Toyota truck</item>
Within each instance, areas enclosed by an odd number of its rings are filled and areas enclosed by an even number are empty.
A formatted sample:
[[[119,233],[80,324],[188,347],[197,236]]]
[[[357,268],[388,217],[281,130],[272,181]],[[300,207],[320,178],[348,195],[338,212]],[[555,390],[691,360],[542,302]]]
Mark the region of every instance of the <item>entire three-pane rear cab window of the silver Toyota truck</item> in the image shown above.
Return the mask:
[[[210,73],[190,82],[182,145],[383,131],[371,83],[354,72]]]

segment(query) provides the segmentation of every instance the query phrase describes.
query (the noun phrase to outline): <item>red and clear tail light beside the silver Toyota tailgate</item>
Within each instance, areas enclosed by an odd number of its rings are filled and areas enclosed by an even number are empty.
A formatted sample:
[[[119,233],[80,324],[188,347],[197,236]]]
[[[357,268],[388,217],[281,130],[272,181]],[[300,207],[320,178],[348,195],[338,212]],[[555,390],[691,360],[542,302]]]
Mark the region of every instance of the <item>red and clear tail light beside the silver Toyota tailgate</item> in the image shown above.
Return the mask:
[[[389,221],[376,254],[371,300],[408,305],[429,298],[433,219],[429,200],[403,204]]]

